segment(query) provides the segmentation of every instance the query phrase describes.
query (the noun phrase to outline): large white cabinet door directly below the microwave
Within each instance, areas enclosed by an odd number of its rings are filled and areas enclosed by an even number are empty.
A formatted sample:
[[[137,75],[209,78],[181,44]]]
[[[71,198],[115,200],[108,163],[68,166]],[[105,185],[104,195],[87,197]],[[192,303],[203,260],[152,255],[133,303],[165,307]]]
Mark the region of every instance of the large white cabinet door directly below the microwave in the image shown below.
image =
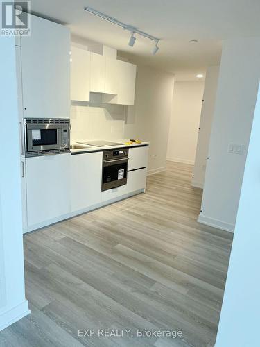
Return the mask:
[[[69,213],[71,154],[26,158],[28,226]]]

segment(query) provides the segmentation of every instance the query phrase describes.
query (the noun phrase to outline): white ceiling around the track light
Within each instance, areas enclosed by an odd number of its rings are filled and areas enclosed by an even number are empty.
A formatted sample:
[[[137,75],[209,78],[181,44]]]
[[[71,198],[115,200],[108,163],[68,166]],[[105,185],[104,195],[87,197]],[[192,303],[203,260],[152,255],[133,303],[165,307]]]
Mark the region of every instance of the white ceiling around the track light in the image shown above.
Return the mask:
[[[85,12],[85,6],[161,38],[159,51],[152,56],[153,42],[138,35],[135,46],[128,46],[129,31]],[[112,46],[119,56],[170,71],[178,80],[218,65],[223,40],[260,35],[259,0],[31,0],[31,11],[66,24],[73,37]]]

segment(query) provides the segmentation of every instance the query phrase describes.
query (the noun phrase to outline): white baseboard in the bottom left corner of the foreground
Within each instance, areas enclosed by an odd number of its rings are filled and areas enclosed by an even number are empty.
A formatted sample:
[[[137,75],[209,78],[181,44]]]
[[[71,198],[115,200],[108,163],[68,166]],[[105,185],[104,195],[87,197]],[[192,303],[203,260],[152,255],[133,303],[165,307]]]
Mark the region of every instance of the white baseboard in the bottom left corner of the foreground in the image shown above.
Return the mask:
[[[30,313],[31,311],[28,308],[27,300],[20,305],[13,307],[11,310],[4,312],[0,316],[0,331],[6,329],[9,325],[19,321]]]

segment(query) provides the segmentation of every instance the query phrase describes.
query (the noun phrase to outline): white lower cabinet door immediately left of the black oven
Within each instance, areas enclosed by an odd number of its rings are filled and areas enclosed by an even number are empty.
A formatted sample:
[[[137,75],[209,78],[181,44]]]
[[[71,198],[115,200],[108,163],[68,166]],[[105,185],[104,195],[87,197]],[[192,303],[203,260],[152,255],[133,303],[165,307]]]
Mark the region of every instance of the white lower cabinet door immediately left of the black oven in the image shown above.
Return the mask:
[[[71,212],[101,202],[102,152],[71,155]]]

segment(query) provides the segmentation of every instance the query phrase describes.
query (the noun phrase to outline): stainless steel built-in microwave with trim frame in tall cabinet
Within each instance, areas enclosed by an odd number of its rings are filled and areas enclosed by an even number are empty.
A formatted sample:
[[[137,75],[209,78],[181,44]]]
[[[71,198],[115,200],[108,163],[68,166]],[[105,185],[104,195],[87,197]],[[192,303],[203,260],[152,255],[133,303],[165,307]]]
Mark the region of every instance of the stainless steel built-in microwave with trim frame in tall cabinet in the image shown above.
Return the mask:
[[[68,153],[69,130],[69,119],[24,119],[26,157]]]

